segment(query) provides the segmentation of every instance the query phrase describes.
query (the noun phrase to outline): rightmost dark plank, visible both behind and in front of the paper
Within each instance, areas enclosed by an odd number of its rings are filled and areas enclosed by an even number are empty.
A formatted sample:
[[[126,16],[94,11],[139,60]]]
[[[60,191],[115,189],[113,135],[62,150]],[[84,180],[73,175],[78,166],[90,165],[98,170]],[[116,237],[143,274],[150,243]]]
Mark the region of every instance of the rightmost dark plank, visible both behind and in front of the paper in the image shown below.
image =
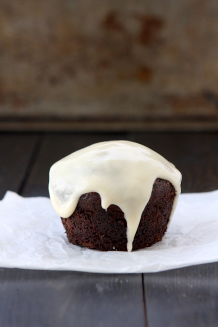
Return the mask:
[[[183,192],[218,188],[218,133],[134,133],[183,174]],[[147,324],[218,326],[218,263],[144,274]]]

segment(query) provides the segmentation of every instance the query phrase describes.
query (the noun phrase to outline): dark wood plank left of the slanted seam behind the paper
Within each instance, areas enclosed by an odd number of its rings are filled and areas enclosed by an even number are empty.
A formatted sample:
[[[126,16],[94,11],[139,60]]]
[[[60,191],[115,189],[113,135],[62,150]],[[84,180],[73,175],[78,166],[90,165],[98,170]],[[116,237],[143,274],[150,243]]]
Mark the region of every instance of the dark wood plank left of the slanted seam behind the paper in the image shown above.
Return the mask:
[[[0,199],[18,192],[38,142],[38,134],[0,133]]]

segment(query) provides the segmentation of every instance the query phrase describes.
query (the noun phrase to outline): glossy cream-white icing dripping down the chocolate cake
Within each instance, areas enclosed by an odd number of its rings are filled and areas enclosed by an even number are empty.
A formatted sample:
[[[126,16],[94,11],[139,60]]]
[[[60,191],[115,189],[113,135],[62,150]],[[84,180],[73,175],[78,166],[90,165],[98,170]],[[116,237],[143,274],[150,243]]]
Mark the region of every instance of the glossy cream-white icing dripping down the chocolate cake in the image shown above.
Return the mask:
[[[100,142],[56,162],[49,172],[49,193],[54,209],[68,218],[82,194],[97,192],[102,207],[118,205],[127,222],[127,250],[138,229],[156,178],[170,181],[180,194],[181,173],[153,150],[130,141]]]

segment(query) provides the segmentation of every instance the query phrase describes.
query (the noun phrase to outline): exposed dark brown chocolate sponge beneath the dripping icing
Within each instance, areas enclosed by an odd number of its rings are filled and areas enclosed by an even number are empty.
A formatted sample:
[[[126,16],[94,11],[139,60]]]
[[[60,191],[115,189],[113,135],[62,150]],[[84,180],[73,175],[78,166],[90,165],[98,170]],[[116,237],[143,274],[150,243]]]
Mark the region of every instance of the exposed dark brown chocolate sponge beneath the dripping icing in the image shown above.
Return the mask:
[[[160,241],[167,230],[175,188],[157,178],[149,202],[141,215],[133,241],[133,249],[150,247]],[[101,206],[98,193],[83,194],[69,218],[61,218],[69,242],[102,251],[127,251],[126,220],[123,211],[111,204],[107,211]]]

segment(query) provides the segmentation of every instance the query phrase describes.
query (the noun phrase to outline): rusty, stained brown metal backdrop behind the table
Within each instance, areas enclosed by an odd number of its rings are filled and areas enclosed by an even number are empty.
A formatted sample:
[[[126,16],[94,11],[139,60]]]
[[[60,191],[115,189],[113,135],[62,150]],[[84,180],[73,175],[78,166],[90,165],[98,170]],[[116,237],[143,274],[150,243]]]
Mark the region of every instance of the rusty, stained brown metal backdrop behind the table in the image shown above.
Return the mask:
[[[218,1],[1,0],[0,130],[218,130]]]

